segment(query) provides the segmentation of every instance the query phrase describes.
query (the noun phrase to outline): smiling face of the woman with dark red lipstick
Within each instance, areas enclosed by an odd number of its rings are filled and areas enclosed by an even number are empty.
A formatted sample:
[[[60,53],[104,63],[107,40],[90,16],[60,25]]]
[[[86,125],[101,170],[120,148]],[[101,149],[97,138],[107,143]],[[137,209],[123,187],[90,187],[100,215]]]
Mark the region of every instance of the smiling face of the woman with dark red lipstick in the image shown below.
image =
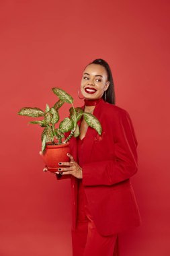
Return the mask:
[[[89,64],[83,71],[81,94],[89,100],[101,98],[109,84],[105,67],[94,63]]]

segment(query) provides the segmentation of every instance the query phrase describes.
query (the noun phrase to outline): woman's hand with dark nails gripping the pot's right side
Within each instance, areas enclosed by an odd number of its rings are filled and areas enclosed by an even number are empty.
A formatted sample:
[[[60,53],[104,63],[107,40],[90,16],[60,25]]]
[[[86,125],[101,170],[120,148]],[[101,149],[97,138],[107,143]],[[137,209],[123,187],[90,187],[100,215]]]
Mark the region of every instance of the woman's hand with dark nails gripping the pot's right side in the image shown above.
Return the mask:
[[[77,162],[75,162],[71,154],[67,153],[67,156],[69,156],[69,158],[71,159],[71,162],[60,162],[59,165],[60,166],[64,165],[69,167],[58,168],[58,170],[60,170],[60,173],[62,175],[71,174],[75,176],[77,179],[83,179],[82,168],[79,166],[79,164],[77,164]],[[58,173],[58,172],[54,172],[54,173]]]

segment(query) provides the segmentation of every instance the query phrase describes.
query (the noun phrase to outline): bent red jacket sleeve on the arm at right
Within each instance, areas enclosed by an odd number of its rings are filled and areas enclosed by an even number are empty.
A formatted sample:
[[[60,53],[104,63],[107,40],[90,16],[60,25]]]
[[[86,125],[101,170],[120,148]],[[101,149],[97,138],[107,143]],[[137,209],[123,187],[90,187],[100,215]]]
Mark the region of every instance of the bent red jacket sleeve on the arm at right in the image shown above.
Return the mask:
[[[114,157],[112,160],[89,162],[82,165],[83,185],[114,185],[129,179],[138,170],[136,135],[130,115],[120,111],[114,127]],[[107,150],[107,148],[106,148]]]

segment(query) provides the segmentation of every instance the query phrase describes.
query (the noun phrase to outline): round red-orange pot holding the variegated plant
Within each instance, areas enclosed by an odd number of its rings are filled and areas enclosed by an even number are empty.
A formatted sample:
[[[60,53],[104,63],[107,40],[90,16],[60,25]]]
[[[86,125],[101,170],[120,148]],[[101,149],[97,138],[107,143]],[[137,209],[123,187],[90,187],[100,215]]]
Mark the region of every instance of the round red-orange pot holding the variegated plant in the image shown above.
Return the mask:
[[[42,154],[42,159],[48,170],[56,172],[56,168],[60,168],[58,162],[70,162],[67,153],[70,153],[69,142],[61,145],[52,145],[50,142],[47,142],[44,154]],[[62,165],[61,167],[64,166]]]

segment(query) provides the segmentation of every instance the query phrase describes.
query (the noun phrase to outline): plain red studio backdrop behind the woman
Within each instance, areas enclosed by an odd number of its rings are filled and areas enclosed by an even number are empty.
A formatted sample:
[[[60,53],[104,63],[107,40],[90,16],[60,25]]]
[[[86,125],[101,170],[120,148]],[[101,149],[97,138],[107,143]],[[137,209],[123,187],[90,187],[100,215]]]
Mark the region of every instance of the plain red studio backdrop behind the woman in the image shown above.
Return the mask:
[[[110,64],[138,138],[142,226],[120,235],[121,256],[169,255],[169,1],[2,0],[0,9],[0,255],[71,256],[70,181],[42,172],[42,128],[17,111],[52,106],[52,87],[81,106],[83,68],[96,58]]]

